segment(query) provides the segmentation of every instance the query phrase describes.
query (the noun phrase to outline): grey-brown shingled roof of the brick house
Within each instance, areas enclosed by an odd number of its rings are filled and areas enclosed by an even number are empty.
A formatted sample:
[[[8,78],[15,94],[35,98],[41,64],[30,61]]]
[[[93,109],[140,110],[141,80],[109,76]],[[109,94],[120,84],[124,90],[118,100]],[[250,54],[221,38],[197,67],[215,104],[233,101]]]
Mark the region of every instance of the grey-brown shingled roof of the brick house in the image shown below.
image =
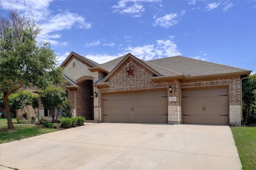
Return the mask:
[[[88,68],[91,71],[101,70],[106,73],[110,73],[122,60],[128,55],[118,57],[114,60],[108,61],[103,64],[98,64],[82,55],[72,52],[84,60],[94,64],[92,68]],[[130,53],[129,53],[130,54]],[[202,76],[214,76],[214,75],[228,75],[228,74],[250,74],[251,71],[227,66],[223,64],[211,63],[207,61],[192,59],[183,56],[166,57],[162,59],[144,61],[139,59],[141,62],[152,68],[153,71],[158,72],[160,77],[170,76],[182,76],[182,77],[202,77]],[[158,76],[159,77],[159,76]],[[159,78],[160,78],[159,77]]]

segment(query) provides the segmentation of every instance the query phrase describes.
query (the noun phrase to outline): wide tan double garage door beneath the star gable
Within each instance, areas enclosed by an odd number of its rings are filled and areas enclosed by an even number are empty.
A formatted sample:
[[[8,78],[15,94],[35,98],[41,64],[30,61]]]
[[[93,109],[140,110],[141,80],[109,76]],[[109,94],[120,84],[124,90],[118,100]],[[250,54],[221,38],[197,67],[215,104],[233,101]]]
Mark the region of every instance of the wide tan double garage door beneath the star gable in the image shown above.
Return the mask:
[[[102,99],[102,121],[168,123],[166,89],[110,93]]]

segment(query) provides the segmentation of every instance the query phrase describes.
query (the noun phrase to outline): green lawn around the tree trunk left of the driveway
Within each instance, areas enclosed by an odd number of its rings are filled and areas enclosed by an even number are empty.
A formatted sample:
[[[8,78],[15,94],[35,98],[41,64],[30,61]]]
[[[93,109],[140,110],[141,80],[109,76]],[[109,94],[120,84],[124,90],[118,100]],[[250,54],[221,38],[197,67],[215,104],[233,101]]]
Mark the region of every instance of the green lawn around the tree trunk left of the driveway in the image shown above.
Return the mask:
[[[58,131],[58,129],[51,129],[44,127],[44,124],[23,124],[17,123],[15,118],[12,118],[14,130],[8,130],[7,119],[0,118],[0,143],[12,142],[28,137],[42,135]]]

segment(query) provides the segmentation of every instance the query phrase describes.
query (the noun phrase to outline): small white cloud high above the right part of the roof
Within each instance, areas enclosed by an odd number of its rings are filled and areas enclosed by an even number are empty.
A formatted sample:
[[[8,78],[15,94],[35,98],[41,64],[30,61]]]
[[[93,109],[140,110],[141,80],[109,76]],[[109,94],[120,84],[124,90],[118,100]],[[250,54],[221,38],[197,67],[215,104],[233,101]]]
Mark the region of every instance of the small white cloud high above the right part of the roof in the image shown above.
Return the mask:
[[[154,26],[159,25],[161,27],[168,28],[178,23],[178,20],[177,20],[178,17],[179,15],[177,13],[166,14],[163,17],[157,18],[153,23],[153,25]]]

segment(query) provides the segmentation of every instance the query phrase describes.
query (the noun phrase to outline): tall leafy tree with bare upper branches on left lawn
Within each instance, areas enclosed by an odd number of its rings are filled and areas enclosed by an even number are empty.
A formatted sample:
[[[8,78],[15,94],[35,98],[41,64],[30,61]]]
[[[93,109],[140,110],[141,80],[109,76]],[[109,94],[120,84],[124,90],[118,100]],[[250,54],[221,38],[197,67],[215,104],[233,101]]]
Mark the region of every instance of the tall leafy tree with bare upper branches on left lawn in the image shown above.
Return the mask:
[[[41,29],[32,14],[21,16],[10,10],[8,19],[0,17],[0,89],[8,129],[13,129],[8,97],[20,88],[62,82],[63,68],[57,67],[56,55],[49,43],[38,43]]]

